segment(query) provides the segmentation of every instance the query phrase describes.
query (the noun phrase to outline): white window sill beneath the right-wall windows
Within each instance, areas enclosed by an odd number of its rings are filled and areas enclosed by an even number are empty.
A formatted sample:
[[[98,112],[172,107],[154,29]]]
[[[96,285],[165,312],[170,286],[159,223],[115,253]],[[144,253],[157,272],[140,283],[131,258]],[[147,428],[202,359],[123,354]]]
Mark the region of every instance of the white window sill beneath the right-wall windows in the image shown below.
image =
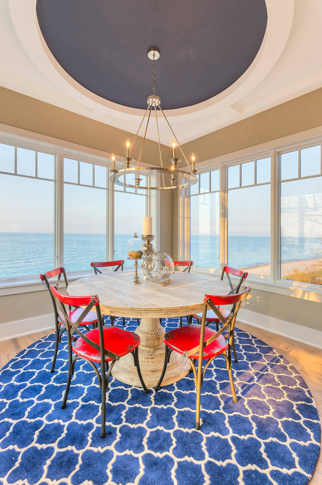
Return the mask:
[[[221,275],[219,269],[205,268],[201,266],[193,266],[191,271],[200,274],[211,274],[214,277],[220,277]],[[237,280],[233,279],[233,281]],[[298,283],[286,280],[272,282],[268,277],[255,275],[249,275],[246,283],[249,283],[255,290],[267,291],[277,295],[285,295],[311,302],[322,303],[322,286],[320,289],[316,284]]]

